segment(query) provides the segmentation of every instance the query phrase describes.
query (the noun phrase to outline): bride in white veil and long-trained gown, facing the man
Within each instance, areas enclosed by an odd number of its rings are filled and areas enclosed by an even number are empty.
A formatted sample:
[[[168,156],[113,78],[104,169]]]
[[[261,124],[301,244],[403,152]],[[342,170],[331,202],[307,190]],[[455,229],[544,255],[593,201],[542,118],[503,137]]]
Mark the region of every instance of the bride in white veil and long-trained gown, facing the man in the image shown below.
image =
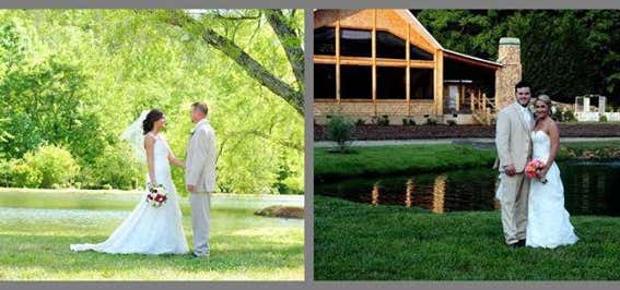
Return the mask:
[[[183,230],[182,212],[172,181],[171,164],[185,168],[172,153],[160,131],[165,116],[157,109],[143,111],[122,134],[137,150],[137,157],[149,167],[149,181],[163,184],[167,201],[159,208],[145,202],[148,190],[133,212],[104,242],[71,244],[72,251],[96,251],[112,254],[185,254],[189,252]],[[140,144],[140,145],[138,145]]]

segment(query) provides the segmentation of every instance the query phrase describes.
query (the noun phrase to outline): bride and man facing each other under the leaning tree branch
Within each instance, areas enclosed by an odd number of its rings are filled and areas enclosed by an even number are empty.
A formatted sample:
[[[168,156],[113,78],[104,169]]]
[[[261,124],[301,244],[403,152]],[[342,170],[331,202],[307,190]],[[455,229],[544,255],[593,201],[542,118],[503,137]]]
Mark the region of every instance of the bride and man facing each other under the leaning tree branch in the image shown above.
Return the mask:
[[[187,146],[187,160],[175,157],[161,134],[166,118],[157,109],[143,111],[122,134],[136,149],[139,160],[149,168],[149,184],[144,200],[104,242],[72,244],[72,251],[96,251],[110,254],[186,254],[189,246],[183,230],[178,194],[174,186],[171,165],[185,169],[185,183],[190,193],[194,257],[209,256],[210,194],[215,191],[215,132],[207,120],[203,102],[191,105],[195,123]],[[161,184],[167,200],[161,207],[147,203],[149,188]]]

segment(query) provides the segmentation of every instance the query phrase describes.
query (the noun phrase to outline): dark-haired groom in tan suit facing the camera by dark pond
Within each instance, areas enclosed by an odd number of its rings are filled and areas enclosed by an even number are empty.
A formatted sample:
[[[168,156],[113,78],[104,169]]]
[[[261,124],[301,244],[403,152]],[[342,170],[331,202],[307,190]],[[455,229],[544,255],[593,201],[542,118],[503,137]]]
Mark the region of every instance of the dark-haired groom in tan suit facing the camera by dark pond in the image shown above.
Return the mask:
[[[498,116],[495,145],[500,159],[500,179],[503,194],[502,225],[505,242],[511,247],[525,245],[529,180],[524,174],[531,158],[531,130],[534,116],[528,108],[531,97],[529,85],[515,85],[516,101]]]

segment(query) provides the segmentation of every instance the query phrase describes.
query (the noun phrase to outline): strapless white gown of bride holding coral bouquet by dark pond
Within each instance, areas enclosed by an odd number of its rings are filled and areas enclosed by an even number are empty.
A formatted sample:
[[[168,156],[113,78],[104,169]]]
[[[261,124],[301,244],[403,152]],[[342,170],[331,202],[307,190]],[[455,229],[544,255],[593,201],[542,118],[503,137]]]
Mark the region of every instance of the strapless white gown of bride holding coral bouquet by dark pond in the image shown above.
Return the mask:
[[[547,162],[551,140],[543,131],[531,132],[533,158]],[[560,169],[553,162],[546,176],[547,183],[530,181],[527,213],[526,245],[553,249],[574,244],[578,238],[564,208],[564,186]]]

